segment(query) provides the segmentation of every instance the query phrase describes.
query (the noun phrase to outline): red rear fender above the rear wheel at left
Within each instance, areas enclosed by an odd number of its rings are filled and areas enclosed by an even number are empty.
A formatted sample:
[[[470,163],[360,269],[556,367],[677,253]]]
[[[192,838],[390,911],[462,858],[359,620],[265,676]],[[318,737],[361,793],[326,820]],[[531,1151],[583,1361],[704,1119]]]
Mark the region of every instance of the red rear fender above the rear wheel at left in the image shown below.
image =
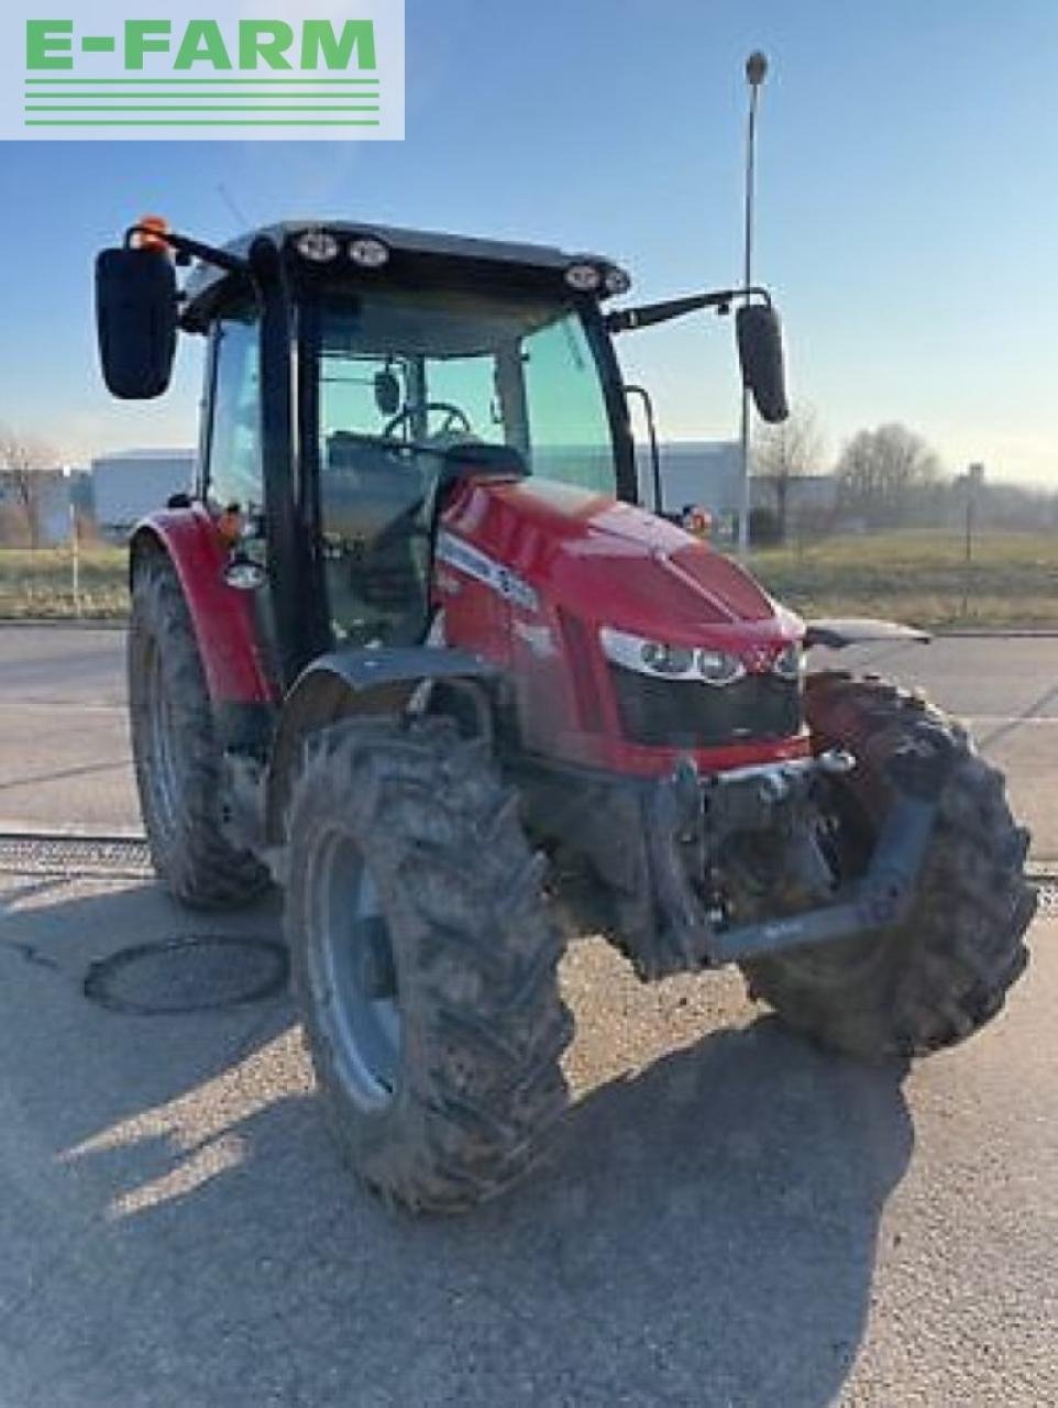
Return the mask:
[[[257,642],[252,594],[224,580],[227,552],[201,504],[144,518],[129,549],[129,573],[148,552],[162,551],[176,569],[214,708],[270,704],[276,691]]]

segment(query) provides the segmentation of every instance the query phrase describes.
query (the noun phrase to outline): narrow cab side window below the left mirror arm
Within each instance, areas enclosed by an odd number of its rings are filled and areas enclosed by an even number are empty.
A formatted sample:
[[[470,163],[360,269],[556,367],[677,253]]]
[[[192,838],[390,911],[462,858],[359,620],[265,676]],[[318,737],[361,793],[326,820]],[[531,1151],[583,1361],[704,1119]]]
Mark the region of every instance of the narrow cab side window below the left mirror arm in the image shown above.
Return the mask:
[[[263,508],[260,465],[260,344],[257,314],[229,314],[217,324],[212,424],[205,491],[212,507]]]

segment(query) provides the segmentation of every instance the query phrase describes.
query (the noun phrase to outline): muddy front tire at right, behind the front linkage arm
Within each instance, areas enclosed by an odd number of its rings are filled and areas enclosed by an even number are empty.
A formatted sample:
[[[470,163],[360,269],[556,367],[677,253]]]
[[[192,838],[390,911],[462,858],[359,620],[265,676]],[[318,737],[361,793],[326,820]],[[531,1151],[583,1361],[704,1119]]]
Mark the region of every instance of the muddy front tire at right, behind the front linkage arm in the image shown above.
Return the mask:
[[[879,680],[809,680],[808,717],[820,746],[850,749],[858,766],[834,786],[861,828],[889,804],[886,760],[947,735],[954,753],[910,915],[874,938],[777,953],[746,963],[753,997],[791,1026],[868,1060],[924,1056],[983,1026],[1028,962],[1023,935],[1035,912],[1026,881],[1028,832],[1014,824],[1003,777],[960,725]]]

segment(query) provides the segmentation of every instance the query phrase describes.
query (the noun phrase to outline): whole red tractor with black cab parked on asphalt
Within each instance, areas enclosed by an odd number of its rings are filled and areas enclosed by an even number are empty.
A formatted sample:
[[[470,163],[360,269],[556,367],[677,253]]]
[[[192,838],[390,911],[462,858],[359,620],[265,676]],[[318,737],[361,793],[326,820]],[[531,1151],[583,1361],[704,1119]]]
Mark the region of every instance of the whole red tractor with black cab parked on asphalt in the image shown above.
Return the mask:
[[[999,1011],[1035,904],[1002,777],[917,694],[806,673],[902,628],[806,625],[637,505],[615,335],[737,307],[781,420],[763,290],[606,311],[629,279],[597,256],[342,222],[217,249],[156,220],[96,284],[115,396],[166,390],[179,329],[208,345],[197,483],[131,542],[155,866],[191,905],[286,890],[367,1186],[446,1211],[530,1167],[575,934],[644,980],[737,963],[868,1060]]]

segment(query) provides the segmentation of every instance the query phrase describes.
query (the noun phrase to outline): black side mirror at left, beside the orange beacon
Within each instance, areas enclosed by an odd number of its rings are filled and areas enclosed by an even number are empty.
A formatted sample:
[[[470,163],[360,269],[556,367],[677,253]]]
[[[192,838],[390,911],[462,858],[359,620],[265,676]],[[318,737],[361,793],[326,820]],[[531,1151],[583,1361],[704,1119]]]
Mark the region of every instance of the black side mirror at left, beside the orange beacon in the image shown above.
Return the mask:
[[[176,355],[176,270],[155,249],[104,249],[96,259],[96,328],[107,390],[149,401],[169,387]]]

